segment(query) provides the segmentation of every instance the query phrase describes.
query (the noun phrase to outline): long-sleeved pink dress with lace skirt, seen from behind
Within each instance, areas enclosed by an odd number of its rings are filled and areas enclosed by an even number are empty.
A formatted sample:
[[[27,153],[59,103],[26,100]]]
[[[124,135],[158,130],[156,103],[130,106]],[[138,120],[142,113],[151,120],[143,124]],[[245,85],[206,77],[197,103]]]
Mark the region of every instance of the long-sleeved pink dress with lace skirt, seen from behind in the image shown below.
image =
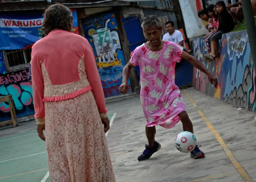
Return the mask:
[[[33,45],[31,57],[34,116],[45,123],[52,182],[114,182],[101,123],[107,109],[89,42],[52,31]]]

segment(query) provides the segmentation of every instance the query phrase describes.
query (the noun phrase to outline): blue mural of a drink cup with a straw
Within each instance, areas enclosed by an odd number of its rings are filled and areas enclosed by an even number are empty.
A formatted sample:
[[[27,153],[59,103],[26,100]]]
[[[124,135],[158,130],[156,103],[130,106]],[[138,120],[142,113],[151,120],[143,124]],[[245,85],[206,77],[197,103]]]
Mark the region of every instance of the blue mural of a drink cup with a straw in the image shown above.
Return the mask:
[[[83,26],[85,37],[94,50],[105,97],[119,95],[126,62],[114,13],[88,17],[83,20]]]

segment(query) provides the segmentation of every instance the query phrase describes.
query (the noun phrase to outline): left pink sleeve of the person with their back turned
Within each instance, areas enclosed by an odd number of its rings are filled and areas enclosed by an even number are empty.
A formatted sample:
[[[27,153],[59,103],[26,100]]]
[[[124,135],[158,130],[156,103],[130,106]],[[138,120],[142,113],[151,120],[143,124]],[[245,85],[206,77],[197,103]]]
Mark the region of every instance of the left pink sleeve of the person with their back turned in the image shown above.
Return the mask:
[[[33,88],[33,102],[35,110],[35,120],[38,124],[44,124],[44,80],[40,65],[39,57],[36,55],[36,50],[32,47],[31,53],[31,76],[32,76],[32,88]]]

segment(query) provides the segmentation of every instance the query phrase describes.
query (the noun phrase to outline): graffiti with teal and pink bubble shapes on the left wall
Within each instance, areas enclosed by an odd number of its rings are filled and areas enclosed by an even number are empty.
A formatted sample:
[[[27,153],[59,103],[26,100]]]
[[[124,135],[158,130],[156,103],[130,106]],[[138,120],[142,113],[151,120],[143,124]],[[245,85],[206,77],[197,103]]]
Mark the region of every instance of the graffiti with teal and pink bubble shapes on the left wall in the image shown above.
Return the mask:
[[[28,69],[0,73],[0,97],[12,95],[17,117],[34,114],[32,85],[28,82]],[[0,103],[0,122],[11,120],[8,103]]]

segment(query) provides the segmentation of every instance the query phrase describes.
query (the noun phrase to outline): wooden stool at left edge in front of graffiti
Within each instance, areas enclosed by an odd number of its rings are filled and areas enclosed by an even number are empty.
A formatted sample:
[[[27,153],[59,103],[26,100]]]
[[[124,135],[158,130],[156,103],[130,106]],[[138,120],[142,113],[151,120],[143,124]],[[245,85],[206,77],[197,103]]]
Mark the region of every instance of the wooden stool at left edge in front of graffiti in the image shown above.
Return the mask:
[[[12,123],[13,127],[15,128],[18,125],[18,123],[16,124],[17,117],[16,117],[16,112],[15,112],[15,107],[14,107],[14,102],[13,102],[13,99],[12,99],[12,95],[6,95],[6,96],[3,96],[3,97],[0,97],[0,103],[3,103],[3,102],[8,102],[9,103],[12,120],[11,121],[0,122],[0,125],[5,125],[5,124]]]

